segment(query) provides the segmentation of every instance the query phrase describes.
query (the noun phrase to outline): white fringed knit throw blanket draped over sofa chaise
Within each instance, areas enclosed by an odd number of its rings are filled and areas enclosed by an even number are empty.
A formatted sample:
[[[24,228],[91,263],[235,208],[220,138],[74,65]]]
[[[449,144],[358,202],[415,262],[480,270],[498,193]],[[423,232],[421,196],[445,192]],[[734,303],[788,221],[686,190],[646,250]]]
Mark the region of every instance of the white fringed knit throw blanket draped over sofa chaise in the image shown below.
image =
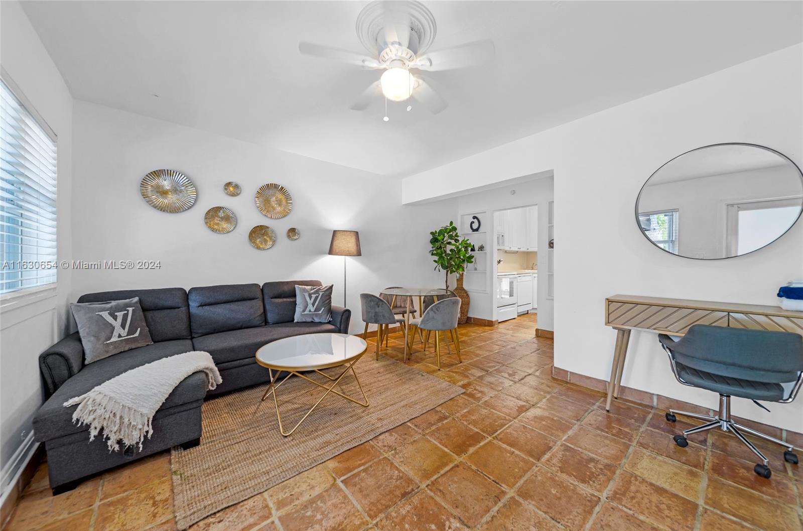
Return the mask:
[[[153,433],[153,415],[181,380],[198,371],[206,373],[209,389],[222,382],[210,354],[193,350],[128,370],[64,406],[79,404],[72,422],[89,425],[90,441],[103,429],[109,451],[119,451],[120,442],[142,450],[145,436]]]

